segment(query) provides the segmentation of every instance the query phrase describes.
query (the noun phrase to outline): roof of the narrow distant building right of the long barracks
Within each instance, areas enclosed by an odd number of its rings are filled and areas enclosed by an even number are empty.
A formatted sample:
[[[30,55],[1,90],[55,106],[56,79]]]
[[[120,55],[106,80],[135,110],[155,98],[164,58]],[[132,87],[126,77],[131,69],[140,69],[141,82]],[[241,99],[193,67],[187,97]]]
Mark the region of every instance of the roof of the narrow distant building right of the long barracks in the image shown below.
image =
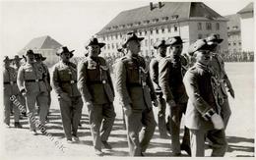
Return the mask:
[[[228,20],[226,23],[227,32],[230,31],[240,31],[240,15],[239,14],[233,14],[233,15],[227,15],[224,16]],[[228,29],[229,28],[229,29]]]

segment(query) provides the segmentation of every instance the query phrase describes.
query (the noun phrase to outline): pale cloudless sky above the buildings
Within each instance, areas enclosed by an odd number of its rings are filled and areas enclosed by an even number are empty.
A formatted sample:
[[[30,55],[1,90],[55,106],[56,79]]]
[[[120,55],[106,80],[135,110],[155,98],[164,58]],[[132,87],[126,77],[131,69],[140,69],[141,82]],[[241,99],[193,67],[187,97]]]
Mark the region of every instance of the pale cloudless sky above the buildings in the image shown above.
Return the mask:
[[[225,16],[235,14],[251,1],[253,0],[211,0],[204,3]],[[15,55],[32,38],[50,35],[62,45],[75,49],[76,56],[82,56],[86,41],[120,12],[146,6],[150,2],[158,1],[1,0],[1,55]]]

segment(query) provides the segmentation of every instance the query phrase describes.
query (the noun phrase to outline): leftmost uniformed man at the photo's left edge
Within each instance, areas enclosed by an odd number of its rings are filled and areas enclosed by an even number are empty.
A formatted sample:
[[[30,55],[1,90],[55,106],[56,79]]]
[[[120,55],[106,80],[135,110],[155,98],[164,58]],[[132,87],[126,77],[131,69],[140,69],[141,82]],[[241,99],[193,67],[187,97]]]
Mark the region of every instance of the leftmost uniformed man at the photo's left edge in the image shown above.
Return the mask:
[[[17,105],[13,104],[10,97],[15,96],[20,100],[19,88],[17,86],[17,72],[14,68],[10,67],[11,60],[8,56],[4,57],[4,123],[7,127],[10,127],[10,115],[11,115],[11,106],[14,110],[14,127],[22,128],[19,119],[20,119],[20,110]]]

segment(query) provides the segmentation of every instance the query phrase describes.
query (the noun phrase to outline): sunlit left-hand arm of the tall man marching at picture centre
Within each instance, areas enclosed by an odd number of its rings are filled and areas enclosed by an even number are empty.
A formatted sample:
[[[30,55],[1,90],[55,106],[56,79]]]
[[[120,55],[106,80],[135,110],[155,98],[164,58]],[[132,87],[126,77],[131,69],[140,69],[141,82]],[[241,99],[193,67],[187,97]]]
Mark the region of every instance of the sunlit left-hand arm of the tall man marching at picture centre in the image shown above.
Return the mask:
[[[131,105],[132,100],[126,86],[126,69],[122,61],[116,65],[116,92],[120,98],[120,103],[123,107]],[[138,95],[140,96],[140,95]]]

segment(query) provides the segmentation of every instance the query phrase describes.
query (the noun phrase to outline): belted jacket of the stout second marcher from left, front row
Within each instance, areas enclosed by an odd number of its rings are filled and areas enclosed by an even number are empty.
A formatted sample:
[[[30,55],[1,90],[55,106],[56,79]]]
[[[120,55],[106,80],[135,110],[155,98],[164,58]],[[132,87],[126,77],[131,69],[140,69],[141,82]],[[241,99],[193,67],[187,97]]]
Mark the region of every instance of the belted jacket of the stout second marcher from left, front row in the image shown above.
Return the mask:
[[[43,81],[43,69],[35,63],[26,63],[20,67],[17,82],[21,91],[25,89],[30,94],[47,91]]]

